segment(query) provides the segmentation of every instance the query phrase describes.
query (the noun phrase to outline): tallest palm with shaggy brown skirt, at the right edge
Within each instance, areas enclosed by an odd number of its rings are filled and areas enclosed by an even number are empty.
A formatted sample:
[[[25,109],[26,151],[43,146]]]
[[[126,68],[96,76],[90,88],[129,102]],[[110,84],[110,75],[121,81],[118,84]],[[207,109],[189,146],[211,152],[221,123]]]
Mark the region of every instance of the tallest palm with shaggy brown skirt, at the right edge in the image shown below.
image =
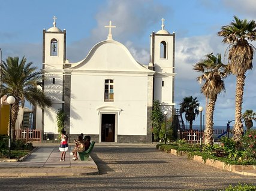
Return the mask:
[[[234,16],[230,25],[222,26],[219,36],[223,37],[222,42],[228,46],[228,61],[231,73],[236,75],[236,112],[234,122],[233,139],[239,142],[243,133],[242,124],[242,103],[243,88],[245,85],[245,73],[252,69],[252,58],[255,48],[248,41],[256,39],[256,23],[254,20],[240,20]]]

